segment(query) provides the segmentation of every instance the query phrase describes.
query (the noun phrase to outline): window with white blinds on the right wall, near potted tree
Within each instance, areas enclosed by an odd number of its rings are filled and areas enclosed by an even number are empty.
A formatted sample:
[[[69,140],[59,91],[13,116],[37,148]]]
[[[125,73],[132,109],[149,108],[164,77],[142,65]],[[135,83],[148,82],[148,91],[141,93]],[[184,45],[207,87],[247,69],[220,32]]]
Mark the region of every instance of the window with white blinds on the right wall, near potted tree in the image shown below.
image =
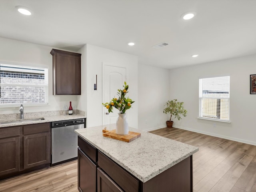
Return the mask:
[[[229,121],[230,76],[199,79],[199,118]]]

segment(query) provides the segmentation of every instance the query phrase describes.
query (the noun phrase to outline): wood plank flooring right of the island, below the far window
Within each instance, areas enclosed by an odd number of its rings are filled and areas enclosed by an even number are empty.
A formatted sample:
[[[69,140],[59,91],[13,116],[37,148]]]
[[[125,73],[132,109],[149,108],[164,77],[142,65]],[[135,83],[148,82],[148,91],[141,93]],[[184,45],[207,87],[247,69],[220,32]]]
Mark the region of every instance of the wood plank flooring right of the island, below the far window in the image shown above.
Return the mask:
[[[256,192],[256,146],[177,128],[151,133],[199,148],[193,155],[194,192]]]

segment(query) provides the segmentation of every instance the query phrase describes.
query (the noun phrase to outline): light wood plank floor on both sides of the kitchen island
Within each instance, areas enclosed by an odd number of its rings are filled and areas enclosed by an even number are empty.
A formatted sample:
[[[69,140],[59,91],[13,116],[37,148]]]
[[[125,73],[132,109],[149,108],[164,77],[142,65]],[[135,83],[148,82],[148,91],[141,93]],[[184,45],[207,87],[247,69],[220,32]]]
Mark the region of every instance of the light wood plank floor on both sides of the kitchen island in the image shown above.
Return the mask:
[[[199,148],[194,192],[256,192],[256,146],[177,128],[152,133]],[[77,161],[0,181],[0,192],[78,192]]]

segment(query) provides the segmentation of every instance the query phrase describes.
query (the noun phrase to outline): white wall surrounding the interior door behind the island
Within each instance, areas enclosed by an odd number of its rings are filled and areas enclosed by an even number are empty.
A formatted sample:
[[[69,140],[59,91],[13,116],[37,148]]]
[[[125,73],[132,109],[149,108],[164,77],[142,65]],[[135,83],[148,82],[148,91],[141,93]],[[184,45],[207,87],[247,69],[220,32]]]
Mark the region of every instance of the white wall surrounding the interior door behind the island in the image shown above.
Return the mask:
[[[106,48],[86,44],[86,48],[80,50],[85,54],[86,52],[86,82],[82,82],[82,86],[86,86],[86,96],[79,98],[87,100],[87,127],[102,125],[102,62],[112,64],[115,66],[126,67],[127,76],[126,81],[129,84],[129,97],[134,100],[133,108],[128,110],[128,124],[130,127],[138,128],[138,57],[109,50]],[[98,75],[97,90],[94,90],[94,83],[96,83],[96,74]]]

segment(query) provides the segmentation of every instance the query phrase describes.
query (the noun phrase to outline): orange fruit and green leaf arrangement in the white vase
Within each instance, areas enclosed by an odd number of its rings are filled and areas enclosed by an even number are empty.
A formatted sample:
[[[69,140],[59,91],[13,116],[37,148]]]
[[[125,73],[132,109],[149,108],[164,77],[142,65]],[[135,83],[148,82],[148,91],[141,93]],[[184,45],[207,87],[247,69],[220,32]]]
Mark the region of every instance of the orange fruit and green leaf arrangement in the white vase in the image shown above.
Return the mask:
[[[107,109],[108,112],[113,112],[112,108],[116,108],[119,110],[121,114],[125,113],[126,110],[130,109],[132,107],[132,101],[129,97],[125,98],[125,95],[128,93],[129,86],[124,82],[124,89],[118,89],[118,98],[113,98],[109,103],[102,103]]]

